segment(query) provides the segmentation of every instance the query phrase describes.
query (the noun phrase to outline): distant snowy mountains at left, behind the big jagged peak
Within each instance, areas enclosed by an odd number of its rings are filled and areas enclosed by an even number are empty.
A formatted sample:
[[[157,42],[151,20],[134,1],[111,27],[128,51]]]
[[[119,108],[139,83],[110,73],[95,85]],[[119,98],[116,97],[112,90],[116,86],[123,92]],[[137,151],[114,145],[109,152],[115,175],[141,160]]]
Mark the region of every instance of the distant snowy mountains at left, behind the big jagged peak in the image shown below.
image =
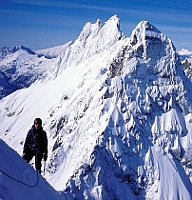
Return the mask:
[[[37,52],[24,46],[0,49],[0,99],[36,81],[55,78],[62,51],[69,45]]]

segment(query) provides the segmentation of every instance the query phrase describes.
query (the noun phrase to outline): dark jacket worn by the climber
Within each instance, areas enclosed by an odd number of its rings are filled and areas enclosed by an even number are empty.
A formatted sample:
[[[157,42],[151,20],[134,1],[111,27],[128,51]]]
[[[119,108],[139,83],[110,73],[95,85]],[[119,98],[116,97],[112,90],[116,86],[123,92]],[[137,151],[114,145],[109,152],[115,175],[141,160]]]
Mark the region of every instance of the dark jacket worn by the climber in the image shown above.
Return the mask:
[[[35,129],[34,125],[28,131],[23,152],[38,151],[47,153],[47,134],[42,127]]]

